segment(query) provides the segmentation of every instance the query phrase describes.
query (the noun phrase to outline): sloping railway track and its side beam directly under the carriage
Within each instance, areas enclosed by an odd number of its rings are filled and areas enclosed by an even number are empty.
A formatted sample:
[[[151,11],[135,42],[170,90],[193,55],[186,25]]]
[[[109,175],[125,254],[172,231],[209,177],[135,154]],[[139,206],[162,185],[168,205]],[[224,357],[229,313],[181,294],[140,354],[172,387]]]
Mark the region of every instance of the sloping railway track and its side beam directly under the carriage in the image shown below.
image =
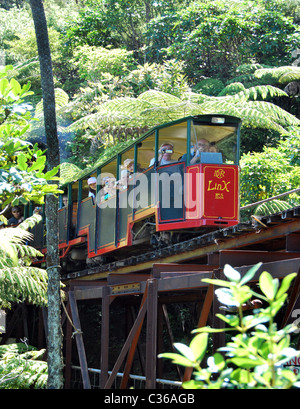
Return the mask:
[[[218,229],[158,249],[151,249],[143,254],[133,255],[123,260],[62,275],[63,280],[101,279],[111,272],[126,274],[146,271],[157,262],[210,264],[209,255],[222,250],[273,250],[270,242],[276,240],[276,251],[282,252],[286,246],[286,236],[300,233],[300,206],[264,217],[253,217],[252,220],[232,227]],[[300,236],[299,236],[300,237]],[[298,242],[300,242],[299,238]],[[278,244],[280,242],[281,244]],[[300,250],[300,245],[298,245]],[[289,251],[287,249],[286,251]],[[297,251],[295,248],[294,251]],[[211,263],[215,264],[215,263]]]

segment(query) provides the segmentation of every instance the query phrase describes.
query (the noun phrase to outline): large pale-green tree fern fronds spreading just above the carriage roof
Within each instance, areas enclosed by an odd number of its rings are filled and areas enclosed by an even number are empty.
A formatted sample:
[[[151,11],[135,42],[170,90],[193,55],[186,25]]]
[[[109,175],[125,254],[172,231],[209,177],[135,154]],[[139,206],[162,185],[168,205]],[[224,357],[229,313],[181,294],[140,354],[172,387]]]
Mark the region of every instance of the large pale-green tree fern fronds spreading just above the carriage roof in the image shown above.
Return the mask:
[[[300,121],[275,104],[257,101],[258,98],[282,95],[286,93],[272,86],[256,86],[244,90],[239,88],[239,92],[234,95],[219,97],[187,93],[181,99],[165,92],[150,90],[137,98],[122,97],[108,101],[99,107],[97,113],[81,118],[68,129],[76,131],[90,128],[99,131],[111,125],[115,130],[120,126],[152,127],[183,116],[220,113],[240,116],[244,120],[244,126],[275,129],[283,133],[286,126],[299,125]]]

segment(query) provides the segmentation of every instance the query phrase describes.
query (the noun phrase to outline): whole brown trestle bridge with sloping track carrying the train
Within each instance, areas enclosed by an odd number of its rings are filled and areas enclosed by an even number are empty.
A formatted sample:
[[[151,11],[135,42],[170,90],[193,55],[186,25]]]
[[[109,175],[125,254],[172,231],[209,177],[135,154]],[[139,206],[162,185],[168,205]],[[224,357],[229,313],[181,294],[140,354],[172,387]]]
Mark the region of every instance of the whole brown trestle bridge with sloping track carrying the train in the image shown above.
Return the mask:
[[[258,262],[263,262],[263,265],[253,279],[254,284],[263,270],[279,279],[291,272],[298,273],[284,310],[282,325],[285,325],[291,320],[292,312],[300,308],[300,207],[262,217],[260,220],[253,218],[249,223],[241,223],[155,252],[65,276],[67,310],[70,311],[73,323],[71,327],[66,320],[66,388],[70,387],[71,379],[72,333],[75,334],[83,387],[91,387],[88,352],[81,333],[78,302],[98,300],[102,305],[100,388],[109,389],[113,386],[122,365],[124,369],[120,388],[127,388],[136,352],[139,352],[146,378],[145,387],[156,388],[156,379],[163,377],[161,360],[157,360],[157,355],[166,352],[162,351],[164,323],[172,335],[165,308],[168,303],[196,302],[200,305],[198,326],[206,325],[210,316],[210,325],[220,327],[223,321],[215,317],[215,313],[220,311],[213,287],[201,280],[224,278],[225,264],[230,264],[243,274]],[[139,310],[137,316],[131,317],[132,327],[111,368],[110,310],[116,299],[129,307],[132,305],[130,301],[134,300],[135,304],[139,304]],[[141,351],[139,337],[144,321],[146,341],[144,351]],[[215,335],[213,349],[224,344],[224,341],[224,334]],[[191,372],[186,370],[182,380],[187,380],[190,376]]]

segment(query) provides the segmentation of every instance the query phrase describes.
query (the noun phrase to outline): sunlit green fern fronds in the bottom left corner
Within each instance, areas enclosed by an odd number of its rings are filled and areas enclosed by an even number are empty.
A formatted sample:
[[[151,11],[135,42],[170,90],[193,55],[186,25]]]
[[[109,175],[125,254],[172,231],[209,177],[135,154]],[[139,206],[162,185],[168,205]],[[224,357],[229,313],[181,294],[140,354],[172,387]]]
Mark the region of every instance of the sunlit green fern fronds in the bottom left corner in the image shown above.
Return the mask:
[[[0,346],[0,389],[44,389],[48,368],[45,349],[26,343]]]

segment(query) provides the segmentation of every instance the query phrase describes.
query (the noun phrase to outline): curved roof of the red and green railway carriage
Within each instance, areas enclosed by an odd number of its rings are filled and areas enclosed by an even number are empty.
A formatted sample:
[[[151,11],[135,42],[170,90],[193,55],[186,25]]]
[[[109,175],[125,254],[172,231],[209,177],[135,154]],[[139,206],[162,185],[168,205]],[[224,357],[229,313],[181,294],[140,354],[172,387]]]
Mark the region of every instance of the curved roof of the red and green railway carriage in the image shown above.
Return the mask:
[[[241,118],[231,116],[231,115],[223,115],[223,114],[216,113],[216,114],[189,115],[189,116],[179,118],[179,119],[174,120],[174,121],[165,122],[163,124],[156,125],[156,126],[150,128],[148,131],[146,131],[143,135],[141,135],[137,139],[129,141],[129,143],[126,144],[125,147],[124,147],[124,145],[122,147],[120,147],[120,150],[117,150],[114,154],[112,154],[109,159],[102,159],[101,160],[101,158],[100,158],[95,163],[94,166],[92,166],[91,168],[88,168],[88,169],[84,169],[84,170],[82,170],[82,172],[79,172],[78,177],[76,178],[76,180],[86,179],[89,175],[94,173],[99,167],[102,167],[105,164],[108,164],[109,162],[114,160],[117,157],[117,155],[126,152],[128,149],[132,148],[135,144],[138,144],[138,143],[142,142],[144,139],[149,137],[151,134],[155,133],[156,130],[159,131],[159,130],[162,130],[162,129],[165,129],[165,128],[168,128],[168,127],[171,127],[171,126],[174,126],[174,125],[180,125],[181,123],[187,122],[188,120],[192,120],[194,125],[214,125],[214,126],[222,126],[222,127],[227,125],[227,126],[231,126],[231,127],[234,126],[234,127],[237,127],[237,128],[242,123]],[[219,140],[221,140],[225,136],[226,136],[226,134],[223,135],[222,133],[220,133]],[[199,135],[199,137],[201,137],[201,135]],[[65,186],[68,183],[75,182],[76,180],[66,181],[62,186]]]

